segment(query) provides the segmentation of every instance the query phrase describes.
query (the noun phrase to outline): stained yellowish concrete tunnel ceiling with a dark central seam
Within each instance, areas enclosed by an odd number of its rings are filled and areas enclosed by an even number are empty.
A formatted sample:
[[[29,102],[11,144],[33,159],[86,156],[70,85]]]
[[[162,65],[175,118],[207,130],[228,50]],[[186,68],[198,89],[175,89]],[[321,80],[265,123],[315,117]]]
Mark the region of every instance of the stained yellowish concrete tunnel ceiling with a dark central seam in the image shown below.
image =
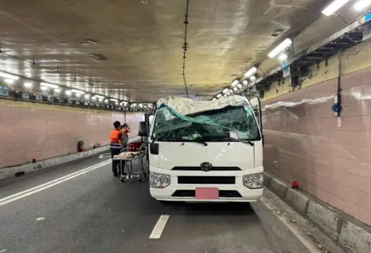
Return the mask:
[[[13,0],[0,6],[1,70],[120,99],[186,95],[186,0]],[[190,0],[190,97],[214,95],[321,14],[323,0]]]

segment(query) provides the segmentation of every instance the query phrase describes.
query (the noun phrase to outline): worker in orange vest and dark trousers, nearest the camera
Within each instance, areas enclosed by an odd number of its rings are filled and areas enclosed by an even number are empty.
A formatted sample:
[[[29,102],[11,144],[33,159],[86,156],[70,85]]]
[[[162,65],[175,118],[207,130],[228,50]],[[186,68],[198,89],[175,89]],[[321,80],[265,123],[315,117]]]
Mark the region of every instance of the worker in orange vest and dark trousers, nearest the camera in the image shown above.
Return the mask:
[[[111,158],[115,155],[119,155],[121,150],[124,149],[124,142],[122,141],[122,132],[121,132],[121,123],[120,121],[115,121],[113,123],[115,127],[110,134],[110,149],[111,149]],[[122,168],[123,169],[123,168]],[[120,161],[112,160],[112,171],[114,176],[118,176],[118,171],[121,171]]]

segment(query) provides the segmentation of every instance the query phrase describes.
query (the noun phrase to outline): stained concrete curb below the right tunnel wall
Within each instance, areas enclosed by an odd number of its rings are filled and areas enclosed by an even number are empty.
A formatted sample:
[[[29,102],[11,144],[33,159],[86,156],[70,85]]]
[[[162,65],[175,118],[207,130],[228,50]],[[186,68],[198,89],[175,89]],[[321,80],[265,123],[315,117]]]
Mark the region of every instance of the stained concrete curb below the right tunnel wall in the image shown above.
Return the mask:
[[[348,253],[371,252],[371,227],[264,172],[264,186]]]

